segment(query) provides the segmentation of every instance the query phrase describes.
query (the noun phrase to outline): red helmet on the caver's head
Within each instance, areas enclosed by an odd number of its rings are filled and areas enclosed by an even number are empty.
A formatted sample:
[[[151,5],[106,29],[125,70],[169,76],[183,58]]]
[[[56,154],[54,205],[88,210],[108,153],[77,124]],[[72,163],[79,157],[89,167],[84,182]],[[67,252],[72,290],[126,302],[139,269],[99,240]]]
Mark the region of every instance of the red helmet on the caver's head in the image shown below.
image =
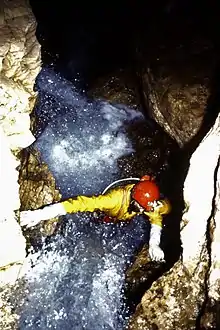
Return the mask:
[[[144,175],[132,190],[132,198],[145,210],[150,211],[152,203],[160,198],[160,191],[154,179]]]

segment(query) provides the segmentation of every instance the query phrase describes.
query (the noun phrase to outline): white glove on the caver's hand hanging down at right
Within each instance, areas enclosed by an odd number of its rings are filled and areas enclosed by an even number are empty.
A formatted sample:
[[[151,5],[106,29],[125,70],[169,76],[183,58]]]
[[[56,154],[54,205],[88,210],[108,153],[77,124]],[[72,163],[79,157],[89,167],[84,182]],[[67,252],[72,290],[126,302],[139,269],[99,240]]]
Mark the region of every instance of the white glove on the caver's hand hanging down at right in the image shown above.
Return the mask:
[[[158,225],[152,224],[150,230],[149,240],[149,254],[152,261],[164,262],[164,253],[160,248],[160,237],[162,228]]]

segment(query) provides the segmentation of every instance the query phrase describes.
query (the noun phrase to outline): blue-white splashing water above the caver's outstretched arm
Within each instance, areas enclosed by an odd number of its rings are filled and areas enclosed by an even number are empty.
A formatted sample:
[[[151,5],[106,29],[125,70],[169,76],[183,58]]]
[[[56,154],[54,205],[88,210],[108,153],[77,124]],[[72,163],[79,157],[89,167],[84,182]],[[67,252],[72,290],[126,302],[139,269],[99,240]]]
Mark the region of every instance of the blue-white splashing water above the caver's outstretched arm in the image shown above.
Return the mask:
[[[50,116],[50,122],[35,146],[49,165],[64,198],[99,194],[120,177],[118,160],[135,152],[126,130],[130,123],[144,122],[144,117],[122,105],[116,107],[104,101],[86,103],[69,83],[62,93],[65,80],[59,77],[56,89],[55,78],[49,73],[45,85],[43,78],[39,79],[39,86],[45,86],[49,99],[57,91],[56,99],[60,103],[67,100],[66,106],[74,106],[74,109],[68,108],[60,114],[53,111],[54,108],[47,108],[47,116],[52,112],[54,117]],[[53,88],[48,87],[48,81],[53,82],[50,83]]]

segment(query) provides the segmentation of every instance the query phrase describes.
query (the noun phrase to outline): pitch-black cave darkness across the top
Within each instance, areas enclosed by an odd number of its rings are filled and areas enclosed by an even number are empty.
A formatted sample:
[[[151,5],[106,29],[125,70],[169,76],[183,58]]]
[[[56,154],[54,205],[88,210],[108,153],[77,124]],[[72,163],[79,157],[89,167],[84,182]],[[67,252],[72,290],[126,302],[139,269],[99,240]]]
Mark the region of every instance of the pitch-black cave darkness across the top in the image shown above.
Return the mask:
[[[30,4],[45,64],[87,85],[118,68],[136,70],[179,48],[190,58],[193,43],[219,51],[218,4],[212,1],[39,1]],[[203,46],[204,43],[204,46]],[[207,59],[208,61],[210,60]]]

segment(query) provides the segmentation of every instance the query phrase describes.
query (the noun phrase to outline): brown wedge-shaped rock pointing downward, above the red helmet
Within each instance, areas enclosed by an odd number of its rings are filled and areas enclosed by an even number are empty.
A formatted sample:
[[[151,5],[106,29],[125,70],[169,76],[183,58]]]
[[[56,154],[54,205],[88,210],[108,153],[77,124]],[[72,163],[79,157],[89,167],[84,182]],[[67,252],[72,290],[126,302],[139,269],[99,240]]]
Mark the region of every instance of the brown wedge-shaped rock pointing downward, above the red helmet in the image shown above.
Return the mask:
[[[205,81],[183,82],[175,76],[143,75],[147,106],[152,118],[182,147],[199,131],[209,95]]]

